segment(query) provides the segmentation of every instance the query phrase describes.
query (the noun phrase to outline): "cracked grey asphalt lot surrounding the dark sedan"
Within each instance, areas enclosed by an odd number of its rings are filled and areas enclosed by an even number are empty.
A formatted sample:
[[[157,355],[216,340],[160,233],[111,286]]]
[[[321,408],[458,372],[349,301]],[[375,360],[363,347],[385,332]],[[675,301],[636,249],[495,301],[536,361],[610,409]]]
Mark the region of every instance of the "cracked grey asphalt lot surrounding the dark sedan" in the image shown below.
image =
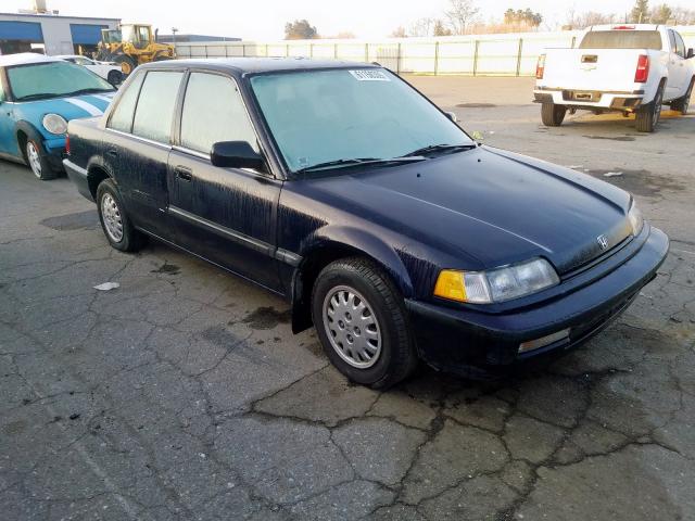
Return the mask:
[[[528,78],[414,81],[485,142],[635,193],[672,244],[628,312],[510,380],[374,392],[281,300],[116,252],[65,178],[0,162],[0,518],[695,519],[695,116],[547,129]]]

